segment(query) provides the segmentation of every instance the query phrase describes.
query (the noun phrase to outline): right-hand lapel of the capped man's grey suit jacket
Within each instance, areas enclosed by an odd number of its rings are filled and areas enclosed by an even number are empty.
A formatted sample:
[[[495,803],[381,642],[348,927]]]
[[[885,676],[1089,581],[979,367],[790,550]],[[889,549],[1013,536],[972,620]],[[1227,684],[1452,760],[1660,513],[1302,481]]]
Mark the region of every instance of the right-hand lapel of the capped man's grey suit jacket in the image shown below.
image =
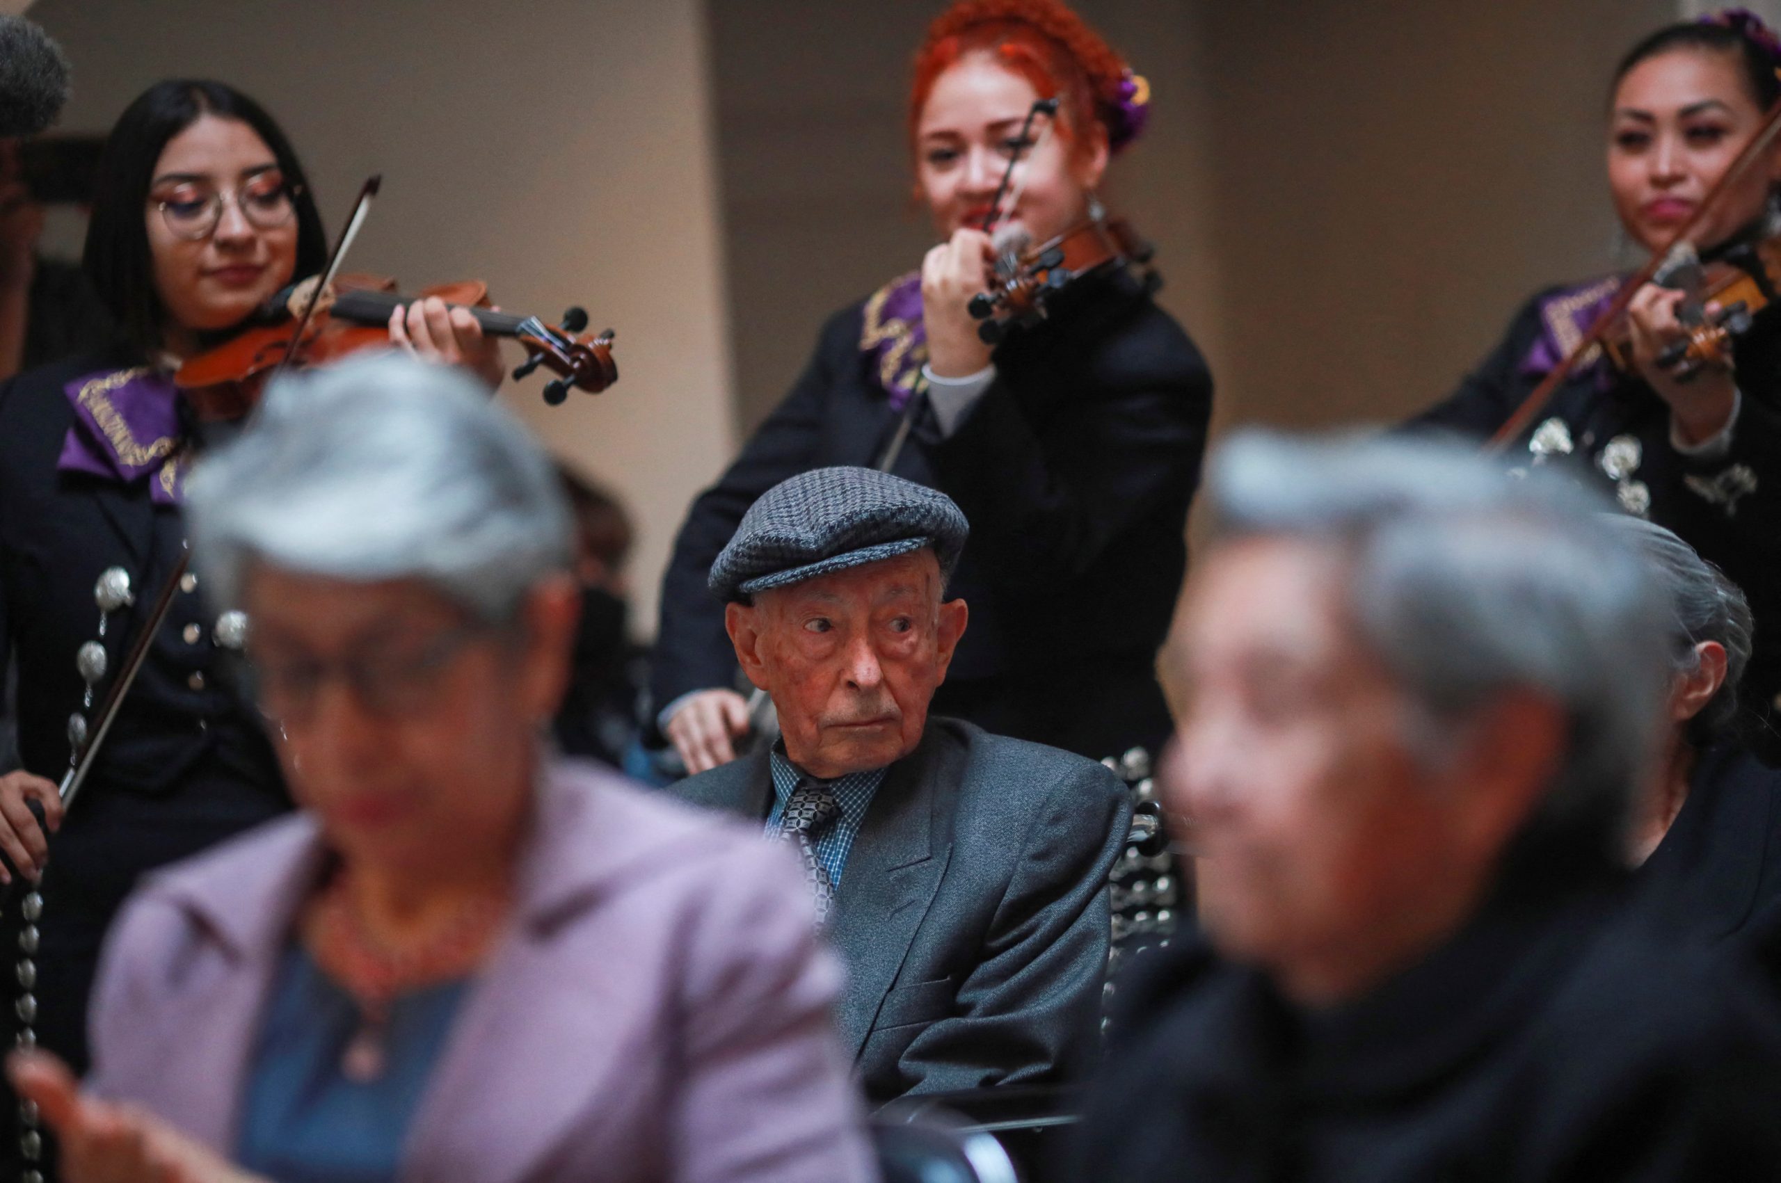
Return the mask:
[[[848,966],[835,1012],[841,1042],[858,1057],[951,855],[940,825],[940,779],[953,773],[930,723],[921,747],[896,763],[866,811],[835,891],[834,946]]]

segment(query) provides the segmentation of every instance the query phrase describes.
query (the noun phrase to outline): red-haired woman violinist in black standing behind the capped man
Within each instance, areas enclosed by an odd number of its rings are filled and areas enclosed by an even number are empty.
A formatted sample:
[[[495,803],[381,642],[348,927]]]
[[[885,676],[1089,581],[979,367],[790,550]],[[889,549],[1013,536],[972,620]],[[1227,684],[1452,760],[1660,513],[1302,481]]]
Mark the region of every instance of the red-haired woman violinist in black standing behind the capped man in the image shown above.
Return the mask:
[[[997,249],[1042,244],[1097,207],[1147,96],[1060,0],[960,0],[933,21],[908,135],[940,242],[830,317],[675,543],[652,688],[689,771],[734,759],[750,725],[705,574],[760,494],[828,465],[889,467],[972,522],[947,593],[969,600],[971,632],[937,713],[1090,757],[1168,732],[1152,663],[1186,567],[1206,363],[1120,269],[1053,292],[1044,321],[994,347],[971,314]],[[1038,100],[1054,114],[1033,116]]]

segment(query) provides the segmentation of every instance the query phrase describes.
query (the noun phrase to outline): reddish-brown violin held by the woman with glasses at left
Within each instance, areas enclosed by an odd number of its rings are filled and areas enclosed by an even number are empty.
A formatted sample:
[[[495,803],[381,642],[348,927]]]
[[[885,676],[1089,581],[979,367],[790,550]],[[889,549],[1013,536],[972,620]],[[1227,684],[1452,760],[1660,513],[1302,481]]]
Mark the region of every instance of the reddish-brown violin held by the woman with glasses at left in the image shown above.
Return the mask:
[[[313,278],[292,283],[267,299],[246,328],[180,365],[173,381],[187,392],[199,417],[235,419],[251,410],[260,387],[287,355],[296,365],[322,365],[358,349],[386,347],[390,314],[415,299],[397,294],[395,281],[379,276],[338,276],[319,298],[315,285]],[[581,308],[566,310],[561,324],[495,312],[486,306],[488,287],[481,280],[442,283],[420,296],[438,296],[452,308],[465,308],[484,333],[525,346],[527,358],[513,376],[549,367],[556,378],[545,385],[545,403],[552,406],[572,388],[598,394],[618,381],[613,330],[586,333],[588,314]],[[312,299],[315,308],[305,322]]]

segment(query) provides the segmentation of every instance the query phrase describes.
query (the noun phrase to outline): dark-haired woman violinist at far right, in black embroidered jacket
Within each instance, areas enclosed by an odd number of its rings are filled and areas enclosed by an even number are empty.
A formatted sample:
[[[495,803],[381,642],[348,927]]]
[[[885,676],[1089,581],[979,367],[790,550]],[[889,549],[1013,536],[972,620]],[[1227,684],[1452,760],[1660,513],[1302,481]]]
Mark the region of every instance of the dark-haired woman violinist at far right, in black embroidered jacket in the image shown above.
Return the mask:
[[[1608,103],[1608,187],[1621,226],[1662,249],[1781,100],[1781,41],[1749,12],[1669,25],[1621,61]],[[1706,260],[1781,232],[1781,148],[1770,144],[1704,210]],[[1671,280],[1671,283],[1678,283]],[[1414,422],[1489,435],[1589,331],[1622,285],[1606,276],[1539,292],[1444,403]],[[1754,714],[1781,693],[1781,314],[1756,312],[1735,365],[1672,360],[1687,340],[1687,285],[1640,289],[1626,314],[1626,367],[1598,351],[1519,435],[1517,467],[1567,463],[1637,517],[1672,529],[1726,572],[1756,615],[1744,682]],[[1712,312],[1712,306],[1708,306]],[[1590,355],[1585,355],[1587,358]],[[1761,747],[1774,754],[1776,734]]]

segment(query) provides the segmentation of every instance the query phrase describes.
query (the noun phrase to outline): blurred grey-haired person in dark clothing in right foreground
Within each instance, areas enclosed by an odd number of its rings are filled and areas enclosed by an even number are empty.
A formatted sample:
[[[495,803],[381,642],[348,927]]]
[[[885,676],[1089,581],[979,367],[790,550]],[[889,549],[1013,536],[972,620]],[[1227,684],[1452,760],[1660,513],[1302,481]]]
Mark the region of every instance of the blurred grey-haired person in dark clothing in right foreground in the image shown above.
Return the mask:
[[[1619,903],[1667,663],[1626,538],[1403,442],[1245,438],[1213,495],[1165,656],[1206,941],[1069,1178],[1781,1178],[1774,999]]]

